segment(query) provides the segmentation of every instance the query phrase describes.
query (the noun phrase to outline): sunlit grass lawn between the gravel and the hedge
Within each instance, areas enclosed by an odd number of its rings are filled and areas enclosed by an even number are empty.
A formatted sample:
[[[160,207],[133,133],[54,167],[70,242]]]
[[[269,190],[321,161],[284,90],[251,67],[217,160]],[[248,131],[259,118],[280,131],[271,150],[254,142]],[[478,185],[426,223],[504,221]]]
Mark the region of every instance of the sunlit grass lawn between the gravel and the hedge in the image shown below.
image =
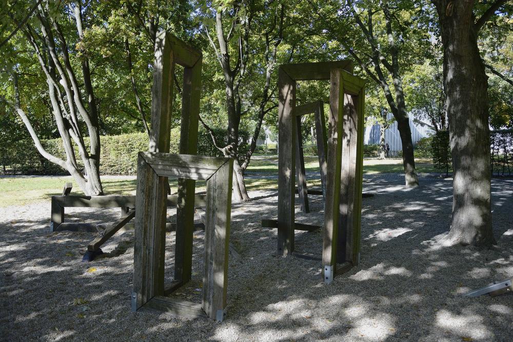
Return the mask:
[[[364,173],[402,172],[401,158],[390,158],[385,160],[364,159]],[[436,172],[433,169],[431,160],[420,158],[416,160],[418,172]],[[319,172],[317,157],[305,157],[305,168],[307,171]],[[247,174],[251,175],[275,175],[278,173],[278,157],[266,156],[257,157],[251,161]],[[49,200],[52,195],[60,195],[64,183],[73,182],[71,176],[19,176],[0,177],[0,207],[23,206],[30,203]],[[103,176],[102,184],[106,194],[135,194],[135,176]],[[205,190],[204,182],[197,182],[196,189]],[[176,187],[175,182],[170,182],[171,188]],[[308,182],[309,187],[320,187],[321,181],[313,180]],[[248,190],[275,189],[278,187],[277,179],[252,178],[246,179]],[[172,190],[172,192],[174,192]],[[72,194],[83,194],[73,182]]]

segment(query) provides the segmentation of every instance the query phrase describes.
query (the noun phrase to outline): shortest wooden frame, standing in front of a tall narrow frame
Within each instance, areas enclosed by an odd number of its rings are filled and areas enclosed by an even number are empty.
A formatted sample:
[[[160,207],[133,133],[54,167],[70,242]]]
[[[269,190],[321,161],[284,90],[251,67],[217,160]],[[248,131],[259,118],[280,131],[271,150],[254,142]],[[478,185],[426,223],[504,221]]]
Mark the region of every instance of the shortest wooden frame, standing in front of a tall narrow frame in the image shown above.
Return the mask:
[[[226,315],[233,159],[186,154],[140,152],[137,192],[132,310],[165,311],[177,316]],[[166,297],[183,281],[164,284],[167,177],[206,180],[205,272],[202,304]],[[176,247],[178,247],[176,241]],[[175,263],[179,263],[175,260]]]

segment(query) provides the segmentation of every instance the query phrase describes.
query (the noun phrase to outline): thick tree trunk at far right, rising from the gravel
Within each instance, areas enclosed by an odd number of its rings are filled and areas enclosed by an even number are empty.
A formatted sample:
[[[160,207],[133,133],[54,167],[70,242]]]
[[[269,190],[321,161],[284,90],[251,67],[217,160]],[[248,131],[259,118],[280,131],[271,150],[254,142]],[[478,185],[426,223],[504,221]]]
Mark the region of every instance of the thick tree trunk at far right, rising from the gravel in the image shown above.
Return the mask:
[[[488,81],[477,45],[474,2],[436,3],[444,46],[444,87],[453,166],[449,238],[461,245],[495,243],[490,205]]]

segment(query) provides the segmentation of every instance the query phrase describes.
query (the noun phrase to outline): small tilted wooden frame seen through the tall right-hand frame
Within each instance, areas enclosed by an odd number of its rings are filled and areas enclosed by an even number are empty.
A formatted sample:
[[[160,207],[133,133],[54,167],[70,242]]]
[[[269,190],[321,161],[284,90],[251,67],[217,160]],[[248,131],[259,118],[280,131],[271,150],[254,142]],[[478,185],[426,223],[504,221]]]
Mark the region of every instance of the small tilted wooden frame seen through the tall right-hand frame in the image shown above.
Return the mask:
[[[307,103],[294,108],[295,124],[296,126],[296,148],[295,153],[295,167],[298,173],[298,195],[300,208],[305,213],[310,212],[310,204],[308,202],[308,193],[306,186],[306,171],[305,171],[305,156],[303,153],[303,136],[301,134],[301,117],[307,114],[314,114],[315,117],[315,135],[317,137],[317,155],[319,157],[319,167],[321,169],[321,189],[322,195],[326,197],[326,151],[327,147],[327,136],[325,129],[324,120],[324,104],[321,100],[312,103]]]

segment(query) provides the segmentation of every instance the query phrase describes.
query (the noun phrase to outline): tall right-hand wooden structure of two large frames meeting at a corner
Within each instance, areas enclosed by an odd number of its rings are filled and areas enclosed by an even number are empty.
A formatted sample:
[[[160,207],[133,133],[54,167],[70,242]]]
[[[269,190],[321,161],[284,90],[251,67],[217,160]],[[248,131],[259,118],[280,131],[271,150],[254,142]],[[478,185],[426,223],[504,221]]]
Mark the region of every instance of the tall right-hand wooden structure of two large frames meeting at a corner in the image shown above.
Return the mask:
[[[294,185],[297,81],[330,80],[330,113],[322,273],[334,275],[359,263],[363,169],[364,81],[353,76],[350,61],[289,64],[278,71],[279,180],[278,253],[294,253]],[[299,256],[299,255],[298,255]],[[317,259],[317,257],[312,257]]]

